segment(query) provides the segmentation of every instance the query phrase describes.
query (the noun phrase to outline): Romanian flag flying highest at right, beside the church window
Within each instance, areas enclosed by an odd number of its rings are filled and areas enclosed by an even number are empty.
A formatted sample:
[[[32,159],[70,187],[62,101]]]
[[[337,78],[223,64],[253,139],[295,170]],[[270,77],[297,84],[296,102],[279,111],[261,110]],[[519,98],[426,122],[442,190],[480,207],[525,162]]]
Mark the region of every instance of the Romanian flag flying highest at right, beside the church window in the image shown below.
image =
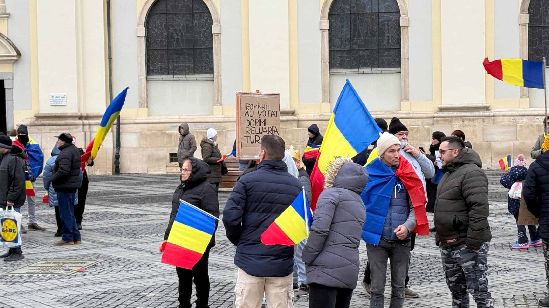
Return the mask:
[[[544,88],[544,62],[522,59],[484,59],[484,69],[490,75],[509,84],[525,88]]]

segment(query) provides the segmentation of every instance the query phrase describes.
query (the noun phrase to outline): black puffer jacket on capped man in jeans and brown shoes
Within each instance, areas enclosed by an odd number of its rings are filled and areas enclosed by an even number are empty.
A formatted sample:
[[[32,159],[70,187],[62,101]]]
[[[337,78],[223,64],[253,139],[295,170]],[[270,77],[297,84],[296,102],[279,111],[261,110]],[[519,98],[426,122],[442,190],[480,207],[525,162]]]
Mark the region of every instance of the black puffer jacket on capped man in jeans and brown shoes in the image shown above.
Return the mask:
[[[61,151],[55,159],[52,185],[56,192],[76,192],[80,187],[80,152],[72,143],[59,147]]]

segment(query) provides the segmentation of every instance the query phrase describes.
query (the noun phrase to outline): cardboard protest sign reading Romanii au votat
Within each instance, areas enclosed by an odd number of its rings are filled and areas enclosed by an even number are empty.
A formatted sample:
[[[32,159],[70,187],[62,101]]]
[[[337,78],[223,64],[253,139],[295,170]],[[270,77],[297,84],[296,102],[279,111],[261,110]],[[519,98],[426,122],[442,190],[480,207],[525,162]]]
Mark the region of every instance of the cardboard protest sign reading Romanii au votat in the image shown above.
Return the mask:
[[[237,158],[259,159],[259,145],[265,135],[280,135],[280,95],[238,92]]]

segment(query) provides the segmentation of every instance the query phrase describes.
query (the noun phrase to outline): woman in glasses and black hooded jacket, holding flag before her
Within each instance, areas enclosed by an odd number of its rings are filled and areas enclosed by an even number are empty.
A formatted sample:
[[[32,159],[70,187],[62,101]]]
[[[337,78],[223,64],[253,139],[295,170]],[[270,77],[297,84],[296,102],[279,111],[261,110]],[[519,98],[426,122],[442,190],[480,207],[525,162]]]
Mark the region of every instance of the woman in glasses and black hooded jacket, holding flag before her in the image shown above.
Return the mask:
[[[179,209],[180,199],[191,203],[206,212],[219,217],[219,201],[217,201],[217,192],[207,181],[210,176],[210,166],[198,158],[187,158],[182,162],[181,184],[177,186],[173,193],[172,210],[170,213],[170,223],[164,235],[164,241],[167,241],[170,230]],[[217,221],[216,221],[217,229]],[[197,289],[198,308],[208,307],[208,298],[210,296],[210,276],[208,275],[208,258],[210,249],[215,246],[215,232],[211,237],[208,248],[202,255],[202,258],[194,265],[192,270],[176,267],[179,277],[179,303],[181,308],[191,308],[191,295],[194,284]]]

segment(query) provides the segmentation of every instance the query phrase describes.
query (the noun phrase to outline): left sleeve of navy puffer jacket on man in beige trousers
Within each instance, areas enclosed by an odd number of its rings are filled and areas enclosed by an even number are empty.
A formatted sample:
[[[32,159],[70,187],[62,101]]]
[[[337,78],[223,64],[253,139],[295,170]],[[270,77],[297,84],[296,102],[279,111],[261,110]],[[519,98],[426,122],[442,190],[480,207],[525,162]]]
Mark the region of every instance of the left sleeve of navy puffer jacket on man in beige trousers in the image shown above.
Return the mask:
[[[238,245],[242,235],[242,214],[246,203],[246,186],[242,179],[234,186],[233,192],[223,209],[223,225],[227,232],[227,238],[234,246]]]

